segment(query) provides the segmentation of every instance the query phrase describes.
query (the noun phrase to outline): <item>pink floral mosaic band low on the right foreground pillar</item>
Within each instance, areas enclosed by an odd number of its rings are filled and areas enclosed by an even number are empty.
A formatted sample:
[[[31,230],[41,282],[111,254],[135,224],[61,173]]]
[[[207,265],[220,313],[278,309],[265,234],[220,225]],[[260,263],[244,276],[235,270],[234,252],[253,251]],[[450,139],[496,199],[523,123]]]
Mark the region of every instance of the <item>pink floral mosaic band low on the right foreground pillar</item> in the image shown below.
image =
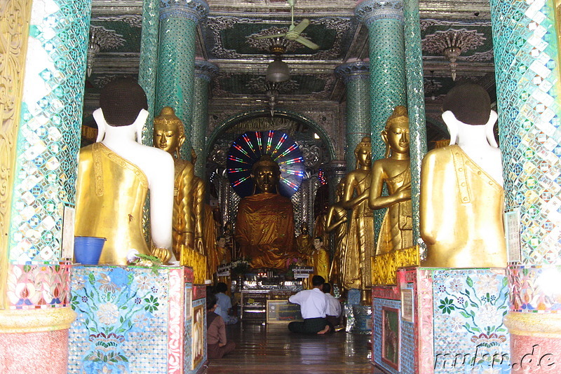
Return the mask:
[[[561,266],[509,266],[511,312],[561,313]]]

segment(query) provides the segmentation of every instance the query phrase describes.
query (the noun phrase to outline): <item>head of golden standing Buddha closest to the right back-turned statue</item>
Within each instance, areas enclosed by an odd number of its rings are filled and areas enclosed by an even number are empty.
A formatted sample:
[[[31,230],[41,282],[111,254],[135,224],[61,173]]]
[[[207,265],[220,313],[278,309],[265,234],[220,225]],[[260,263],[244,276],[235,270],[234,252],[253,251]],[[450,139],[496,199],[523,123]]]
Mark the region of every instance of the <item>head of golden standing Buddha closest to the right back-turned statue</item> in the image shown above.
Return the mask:
[[[393,113],[386,121],[386,127],[381,132],[381,139],[386,144],[385,157],[400,153],[409,158],[409,117],[405,106],[398,105],[393,109]]]

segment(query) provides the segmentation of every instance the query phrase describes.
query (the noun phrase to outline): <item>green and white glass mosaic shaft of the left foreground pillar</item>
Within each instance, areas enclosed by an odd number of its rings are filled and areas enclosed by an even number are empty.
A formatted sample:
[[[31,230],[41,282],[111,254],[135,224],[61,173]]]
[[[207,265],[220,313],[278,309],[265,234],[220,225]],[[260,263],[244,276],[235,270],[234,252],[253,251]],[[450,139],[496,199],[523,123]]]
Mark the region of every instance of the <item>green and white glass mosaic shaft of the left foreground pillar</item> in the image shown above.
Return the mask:
[[[32,9],[9,232],[12,263],[58,263],[63,209],[74,205],[76,193],[91,4],[50,3]]]

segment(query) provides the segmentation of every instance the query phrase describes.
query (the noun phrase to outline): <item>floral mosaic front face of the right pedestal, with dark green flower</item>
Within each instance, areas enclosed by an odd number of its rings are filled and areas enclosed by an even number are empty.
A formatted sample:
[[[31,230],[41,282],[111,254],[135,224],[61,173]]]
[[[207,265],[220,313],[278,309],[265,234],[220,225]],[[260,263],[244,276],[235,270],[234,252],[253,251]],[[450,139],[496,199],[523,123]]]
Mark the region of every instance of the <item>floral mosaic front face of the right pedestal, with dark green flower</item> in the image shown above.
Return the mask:
[[[510,370],[505,271],[433,270],[432,277],[434,373]]]

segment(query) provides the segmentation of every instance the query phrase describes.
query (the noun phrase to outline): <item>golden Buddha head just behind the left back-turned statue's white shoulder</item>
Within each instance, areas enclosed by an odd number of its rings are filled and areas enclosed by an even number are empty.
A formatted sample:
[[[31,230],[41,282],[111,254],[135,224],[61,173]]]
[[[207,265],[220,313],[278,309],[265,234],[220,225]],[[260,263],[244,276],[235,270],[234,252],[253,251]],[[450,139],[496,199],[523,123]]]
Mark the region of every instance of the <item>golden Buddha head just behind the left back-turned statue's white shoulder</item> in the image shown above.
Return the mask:
[[[183,123],[175,116],[173,108],[164,106],[154,118],[154,146],[177,158],[184,141]]]

